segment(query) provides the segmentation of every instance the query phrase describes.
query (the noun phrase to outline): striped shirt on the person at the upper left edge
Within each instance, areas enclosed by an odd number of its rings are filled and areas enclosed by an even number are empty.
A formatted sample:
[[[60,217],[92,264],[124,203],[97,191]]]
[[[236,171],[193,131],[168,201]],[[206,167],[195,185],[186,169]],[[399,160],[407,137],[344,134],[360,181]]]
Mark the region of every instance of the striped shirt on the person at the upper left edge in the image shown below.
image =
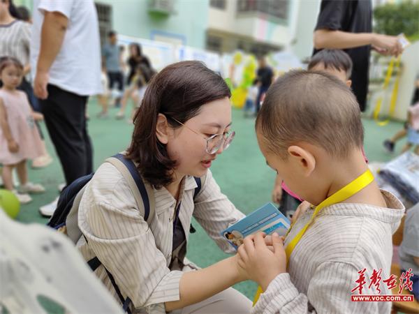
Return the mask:
[[[0,57],[14,57],[23,66],[29,63],[29,45],[31,25],[14,20],[9,24],[0,24]]]

